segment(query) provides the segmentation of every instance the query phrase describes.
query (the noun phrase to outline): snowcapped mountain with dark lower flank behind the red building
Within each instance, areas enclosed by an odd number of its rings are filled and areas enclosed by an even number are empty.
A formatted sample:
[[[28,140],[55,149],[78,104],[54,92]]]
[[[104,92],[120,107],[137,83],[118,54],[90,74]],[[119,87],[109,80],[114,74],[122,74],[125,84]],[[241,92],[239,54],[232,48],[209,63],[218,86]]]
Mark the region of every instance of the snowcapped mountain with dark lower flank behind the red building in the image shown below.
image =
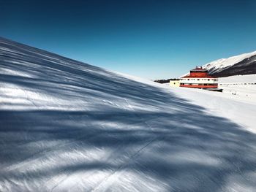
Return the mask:
[[[238,74],[256,74],[256,51],[230,58],[221,58],[205,64],[203,68],[215,77],[228,77]]]

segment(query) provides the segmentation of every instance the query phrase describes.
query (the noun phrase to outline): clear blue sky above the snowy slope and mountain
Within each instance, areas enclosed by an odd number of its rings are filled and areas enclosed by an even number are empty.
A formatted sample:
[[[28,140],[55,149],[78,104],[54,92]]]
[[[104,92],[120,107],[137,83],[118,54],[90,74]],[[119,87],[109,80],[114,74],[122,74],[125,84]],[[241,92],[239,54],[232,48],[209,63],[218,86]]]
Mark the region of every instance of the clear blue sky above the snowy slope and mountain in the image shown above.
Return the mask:
[[[0,36],[148,79],[256,50],[252,0],[0,0]]]

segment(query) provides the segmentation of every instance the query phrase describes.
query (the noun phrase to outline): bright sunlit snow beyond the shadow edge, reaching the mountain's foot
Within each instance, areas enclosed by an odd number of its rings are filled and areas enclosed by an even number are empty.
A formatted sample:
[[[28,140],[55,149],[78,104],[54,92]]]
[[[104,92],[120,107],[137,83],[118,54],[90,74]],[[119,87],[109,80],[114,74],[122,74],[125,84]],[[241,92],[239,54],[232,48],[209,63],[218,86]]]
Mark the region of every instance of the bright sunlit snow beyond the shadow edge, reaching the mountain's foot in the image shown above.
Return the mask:
[[[222,93],[191,88],[170,89],[182,98],[206,107],[212,115],[229,118],[256,134],[256,74],[219,78],[219,88],[223,89]]]

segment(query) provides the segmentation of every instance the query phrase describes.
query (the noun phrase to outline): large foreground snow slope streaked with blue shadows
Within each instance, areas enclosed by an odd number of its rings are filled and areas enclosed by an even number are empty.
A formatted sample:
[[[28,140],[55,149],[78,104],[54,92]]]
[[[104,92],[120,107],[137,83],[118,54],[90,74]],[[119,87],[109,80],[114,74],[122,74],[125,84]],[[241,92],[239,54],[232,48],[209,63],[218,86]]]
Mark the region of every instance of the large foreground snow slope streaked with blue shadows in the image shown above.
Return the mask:
[[[253,104],[2,38],[0,88],[0,191],[256,190]]]

